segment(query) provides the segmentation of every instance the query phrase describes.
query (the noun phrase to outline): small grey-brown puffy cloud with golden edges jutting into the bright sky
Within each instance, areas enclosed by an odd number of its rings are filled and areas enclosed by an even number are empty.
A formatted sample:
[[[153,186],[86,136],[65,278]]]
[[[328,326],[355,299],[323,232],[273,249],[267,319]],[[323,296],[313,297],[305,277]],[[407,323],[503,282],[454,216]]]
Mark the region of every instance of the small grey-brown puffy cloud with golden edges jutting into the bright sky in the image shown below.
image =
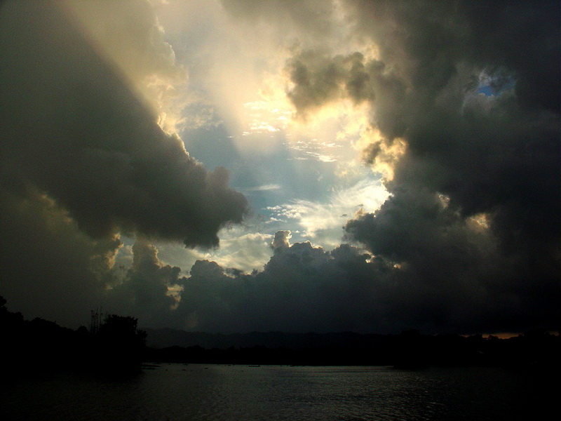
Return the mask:
[[[355,108],[370,105],[370,126],[360,128],[363,159],[384,178],[393,178],[393,164],[403,155],[407,142],[405,116],[407,81],[376,58],[360,52],[330,56],[325,51],[306,50],[287,62],[292,85],[288,98],[300,119],[309,120],[337,102],[350,100]]]

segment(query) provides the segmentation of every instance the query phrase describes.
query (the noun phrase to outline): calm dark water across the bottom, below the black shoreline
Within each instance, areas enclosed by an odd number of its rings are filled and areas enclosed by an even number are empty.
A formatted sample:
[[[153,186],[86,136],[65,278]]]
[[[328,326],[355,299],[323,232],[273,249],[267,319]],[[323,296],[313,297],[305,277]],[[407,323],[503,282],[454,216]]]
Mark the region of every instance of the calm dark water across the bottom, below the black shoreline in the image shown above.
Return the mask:
[[[119,381],[70,373],[4,381],[0,419],[548,419],[535,413],[526,382],[498,368],[163,364]]]

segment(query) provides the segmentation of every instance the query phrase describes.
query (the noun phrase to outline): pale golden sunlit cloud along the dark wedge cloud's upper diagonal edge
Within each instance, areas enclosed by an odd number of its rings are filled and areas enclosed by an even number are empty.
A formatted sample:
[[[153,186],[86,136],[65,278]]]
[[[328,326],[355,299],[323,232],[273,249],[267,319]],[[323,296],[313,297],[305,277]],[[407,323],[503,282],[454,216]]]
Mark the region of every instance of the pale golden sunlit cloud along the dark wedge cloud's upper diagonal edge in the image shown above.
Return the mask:
[[[149,4],[61,2],[91,46],[119,72],[130,90],[147,105],[156,123],[177,133],[187,105],[187,70],[175,60],[163,27]],[[142,25],[138,25],[142,22]]]

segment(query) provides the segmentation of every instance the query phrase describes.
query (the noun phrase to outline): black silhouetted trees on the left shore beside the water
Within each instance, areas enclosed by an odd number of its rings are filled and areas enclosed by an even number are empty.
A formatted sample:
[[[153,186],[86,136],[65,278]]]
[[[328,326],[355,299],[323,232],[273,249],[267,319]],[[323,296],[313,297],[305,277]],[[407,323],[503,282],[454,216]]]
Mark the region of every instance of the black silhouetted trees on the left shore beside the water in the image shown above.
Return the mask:
[[[9,312],[0,296],[0,338],[6,365],[11,370],[71,369],[120,374],[140,370],[146,333],[137,319],[92,312],[90,329],[63,328],[53,321],[24,319]]]

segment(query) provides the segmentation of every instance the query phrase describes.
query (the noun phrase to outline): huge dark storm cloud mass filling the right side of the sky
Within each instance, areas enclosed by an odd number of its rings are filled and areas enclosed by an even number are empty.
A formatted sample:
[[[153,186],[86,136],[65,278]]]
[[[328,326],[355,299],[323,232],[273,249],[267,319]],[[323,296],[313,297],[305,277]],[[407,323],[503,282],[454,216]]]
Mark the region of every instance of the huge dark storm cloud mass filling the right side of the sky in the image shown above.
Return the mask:
[[[482,288],[490,300],[473,305],[501,309],[489,326],[558,328],[559,4],[350,4],[409,88],[393,116],[372,101],[374,125],[403,136],[408,150],[387,184],[391,199],[350,221],[349,239],[403,263],[419,282],[452,294]],[[477,92],[485,78],[492,97]],[[487,239],[467,241],[469,218],[481,214]],[[493,241],[494,253],[475,247]]]

